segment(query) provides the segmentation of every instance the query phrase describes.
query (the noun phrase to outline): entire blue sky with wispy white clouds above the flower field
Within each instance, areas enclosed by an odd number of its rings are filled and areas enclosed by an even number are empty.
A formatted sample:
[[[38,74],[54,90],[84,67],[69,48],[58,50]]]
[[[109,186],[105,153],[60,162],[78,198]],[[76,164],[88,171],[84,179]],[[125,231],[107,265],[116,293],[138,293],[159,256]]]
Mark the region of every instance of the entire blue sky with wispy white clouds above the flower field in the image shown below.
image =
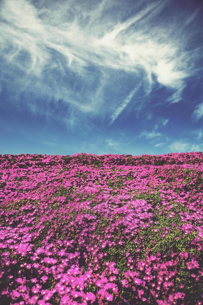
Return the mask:
[[[2,0],[0,153],[203,150],[203,2]]]

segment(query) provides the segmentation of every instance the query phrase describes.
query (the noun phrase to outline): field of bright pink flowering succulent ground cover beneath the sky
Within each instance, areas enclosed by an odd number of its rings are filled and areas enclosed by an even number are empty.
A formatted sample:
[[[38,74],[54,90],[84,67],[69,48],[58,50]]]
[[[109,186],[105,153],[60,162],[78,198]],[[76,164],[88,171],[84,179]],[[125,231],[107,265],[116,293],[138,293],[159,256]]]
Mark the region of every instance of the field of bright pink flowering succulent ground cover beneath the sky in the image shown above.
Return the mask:
[[[0,155],[0,304],[203,304],[203,153]]]

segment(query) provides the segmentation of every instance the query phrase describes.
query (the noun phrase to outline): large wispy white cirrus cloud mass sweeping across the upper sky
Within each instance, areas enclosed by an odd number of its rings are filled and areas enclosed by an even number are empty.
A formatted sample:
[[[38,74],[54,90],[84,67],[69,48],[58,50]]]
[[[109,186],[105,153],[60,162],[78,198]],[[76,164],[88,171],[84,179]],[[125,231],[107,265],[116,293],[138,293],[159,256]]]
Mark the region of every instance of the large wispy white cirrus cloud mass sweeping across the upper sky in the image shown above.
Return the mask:
[[[168,88],[163,103],[180,101],[187,77],[199,69],[200,49],[188,50],[182,39],[198,10],[181,18],[173,12],[170,23],[166,0],[4,0],[0,6],[2,84],[34,113],[56,116],[50,103],[60,101],[66,109],[60,120],[113,124],[126,107],[146,107],[156,83]]]

